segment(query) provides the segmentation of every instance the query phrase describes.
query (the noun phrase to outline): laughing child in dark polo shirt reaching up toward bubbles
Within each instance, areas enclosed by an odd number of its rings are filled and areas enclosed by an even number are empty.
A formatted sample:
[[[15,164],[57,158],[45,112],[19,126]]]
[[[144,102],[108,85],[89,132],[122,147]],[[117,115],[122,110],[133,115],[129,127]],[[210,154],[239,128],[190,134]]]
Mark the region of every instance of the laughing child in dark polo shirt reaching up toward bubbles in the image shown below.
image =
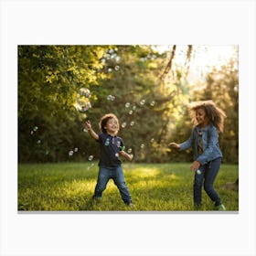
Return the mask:
[[[124,152],[123,139],[117,136],[119,131],[117,117],[112,113],[105,114],[101,117],[99,123],[101,133],[99,134],[93,131],[90,121],[87,121],[85,126],[91,137],[101,144],[100,169],[93,199],[101,198],[102,192],[112,178],[114,184],[119,189],[123,202],[133,207],[132,197],[125,184],[122,162],[119,157],[123,155],[127,160],[132,161],[133,155]]]

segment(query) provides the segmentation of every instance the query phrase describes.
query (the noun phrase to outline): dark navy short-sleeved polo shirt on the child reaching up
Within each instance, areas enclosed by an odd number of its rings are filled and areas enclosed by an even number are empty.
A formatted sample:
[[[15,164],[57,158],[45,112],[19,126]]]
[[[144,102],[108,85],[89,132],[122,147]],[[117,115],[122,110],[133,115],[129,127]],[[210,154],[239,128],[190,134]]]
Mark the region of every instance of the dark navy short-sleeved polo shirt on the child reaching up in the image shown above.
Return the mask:
[[[120,147],[122,147],[123,139],[118,136],[112,136],[108,133],[99,133],[98,143],[101,144],[101,158],[99,166],[116,167],[122,164],[119,157]]]

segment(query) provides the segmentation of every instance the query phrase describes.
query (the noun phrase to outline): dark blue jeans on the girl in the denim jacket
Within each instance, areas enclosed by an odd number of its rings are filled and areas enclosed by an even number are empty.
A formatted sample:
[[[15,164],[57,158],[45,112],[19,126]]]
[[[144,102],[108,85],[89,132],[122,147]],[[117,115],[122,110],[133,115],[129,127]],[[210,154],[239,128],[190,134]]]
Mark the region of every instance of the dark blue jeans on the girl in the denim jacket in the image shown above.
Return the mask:
[[[208,162],[208,164],[206,165],[201,165],[199,167],[199,170],[201,171],[200,175],[198,175],[197,172],[195,172],[194,203],[197,206],[201,205],[203,182],[204,182],[204,189],[207,192],[208,197],[210,197],[210,199],[215,202],[215,206],[219,206],[221,204],[219,195],[213,187],[216,176],[219,173],[220,164],[221,164],[221,157]]]

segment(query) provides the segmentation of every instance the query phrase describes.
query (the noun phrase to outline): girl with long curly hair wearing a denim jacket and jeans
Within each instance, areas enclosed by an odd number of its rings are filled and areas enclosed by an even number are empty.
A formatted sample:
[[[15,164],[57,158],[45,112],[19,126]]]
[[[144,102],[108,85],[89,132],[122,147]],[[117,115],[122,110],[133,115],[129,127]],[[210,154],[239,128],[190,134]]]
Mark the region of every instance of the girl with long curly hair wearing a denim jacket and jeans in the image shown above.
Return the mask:
[[[215,202],[217,210],[225,210],[218,193],[213,187],[219,172],[222,153],[219,148],[219,133],[223,133],[225,112],[220,110],[213,101],[198,101],[189,108],[192,123],[195,125],[190,138],[182,143],[170,143],[179,150],[189,147],[194,149],[195,161],[190,170],[195,171],[194,179],[194,205],[201,207],[202,186],[208,197]]]

